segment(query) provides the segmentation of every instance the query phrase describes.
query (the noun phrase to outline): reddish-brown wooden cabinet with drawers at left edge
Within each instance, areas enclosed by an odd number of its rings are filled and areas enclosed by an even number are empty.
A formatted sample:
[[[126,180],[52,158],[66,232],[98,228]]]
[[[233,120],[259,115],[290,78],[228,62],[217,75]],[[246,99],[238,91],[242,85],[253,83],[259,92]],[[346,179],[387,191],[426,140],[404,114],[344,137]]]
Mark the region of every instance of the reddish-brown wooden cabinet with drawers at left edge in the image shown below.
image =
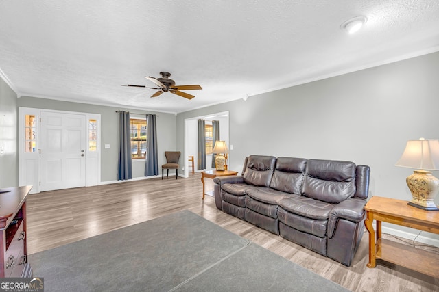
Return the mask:
[[[0,277],[30,277],[27,263],[26,198],[32,186],[0,189]]]

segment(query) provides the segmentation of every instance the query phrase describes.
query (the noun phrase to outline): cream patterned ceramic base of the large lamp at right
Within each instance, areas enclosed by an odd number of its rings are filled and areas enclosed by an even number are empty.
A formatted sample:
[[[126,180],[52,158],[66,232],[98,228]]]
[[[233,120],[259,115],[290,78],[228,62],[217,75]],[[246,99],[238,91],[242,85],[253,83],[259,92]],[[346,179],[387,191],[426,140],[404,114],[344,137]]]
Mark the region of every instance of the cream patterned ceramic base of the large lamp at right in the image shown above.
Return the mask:
[[[413,196],[409,202],[410,206],[428,211],[439,210],[433,201],[439,192],[438,178],[429,171],[415,170],[412,175],[407,177],[406,181]]]

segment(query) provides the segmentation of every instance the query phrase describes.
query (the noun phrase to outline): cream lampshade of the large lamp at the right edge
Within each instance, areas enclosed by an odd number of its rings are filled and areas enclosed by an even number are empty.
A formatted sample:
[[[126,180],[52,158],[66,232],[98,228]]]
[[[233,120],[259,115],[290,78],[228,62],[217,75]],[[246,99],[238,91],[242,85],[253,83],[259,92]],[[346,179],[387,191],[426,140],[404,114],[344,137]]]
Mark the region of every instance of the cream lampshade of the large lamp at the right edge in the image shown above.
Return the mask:
[[[439,170],[439,140],[408,140],[396,166]]]

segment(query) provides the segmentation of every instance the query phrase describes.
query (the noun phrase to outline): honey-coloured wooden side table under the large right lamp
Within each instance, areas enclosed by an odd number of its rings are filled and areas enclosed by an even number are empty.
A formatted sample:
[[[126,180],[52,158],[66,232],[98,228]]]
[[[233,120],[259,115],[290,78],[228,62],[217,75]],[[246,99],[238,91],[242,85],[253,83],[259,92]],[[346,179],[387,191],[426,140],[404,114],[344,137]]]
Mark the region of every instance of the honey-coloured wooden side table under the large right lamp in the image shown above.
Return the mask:
[[[382,259],[414,271],[439,278],[439,254],[427,252],[381,238],[381,222],[389,222],[439,234],[439,211],[425,211],[407,205],[407,201],[373,196],[367,202],[366,229],[369,232],[369,263],[368,267],[376,265],[377,259]],[[372,223],[376,220],[375,230]]]

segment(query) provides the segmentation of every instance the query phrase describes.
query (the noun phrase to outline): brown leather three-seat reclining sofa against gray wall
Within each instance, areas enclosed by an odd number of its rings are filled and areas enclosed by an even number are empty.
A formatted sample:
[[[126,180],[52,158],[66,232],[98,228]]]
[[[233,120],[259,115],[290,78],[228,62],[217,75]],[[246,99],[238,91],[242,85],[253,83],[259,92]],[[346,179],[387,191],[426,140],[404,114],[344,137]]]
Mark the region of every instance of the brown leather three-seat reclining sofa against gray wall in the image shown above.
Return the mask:
[[[251,155],[214,179],[216,207],[350,266],[364,233],[370,168],[349,161]]]

